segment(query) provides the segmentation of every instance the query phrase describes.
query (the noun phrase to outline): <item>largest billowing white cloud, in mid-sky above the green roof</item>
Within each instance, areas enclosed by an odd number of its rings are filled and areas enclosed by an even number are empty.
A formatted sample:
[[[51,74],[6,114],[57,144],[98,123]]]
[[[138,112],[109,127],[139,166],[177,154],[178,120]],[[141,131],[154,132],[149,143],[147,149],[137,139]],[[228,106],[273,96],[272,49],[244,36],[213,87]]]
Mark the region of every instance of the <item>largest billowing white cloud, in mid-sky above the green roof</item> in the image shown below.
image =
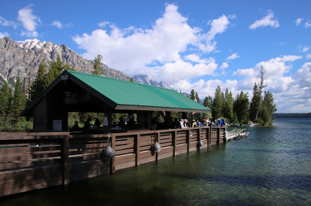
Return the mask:
[[[107,22],[104,21],[101,25],[106,24]],[[130,26],[122,30],[113,23],[109,23],[110,32],[98,29],[91,34],[83,34],[82,37],[77,35],[73,37],[73,40],[80,49],[86,50],[86,53],[82,54],[86,59],[94,59],[97,54],[102,54],[103,63],[111,68],[126,72],[130,76],[155,74],[155,78],[163,81],[157,74],[171,73],[173,76],[173,71],[168,70],[172,70],[177,64],[192,69],[180,69],[182,70],[181,76],[186,76],[186,78],[193,76],[188,73],[196,68],[202,68],[203,72],[198,71],[194,76],[214,72],[217,66],[213,58],[200,59],[197,54],[180,56],[182,52],[194,48],[200,52],[215,50],[215,35],[225,32],[229,21],[223,15],[210,21],[209,25],[211,25],[211,30],[207,33],[202,33],[202,30],[196,27],[191,28],[187,24],[187,18],[182,17],[178,12],[178,7],[174,4],[167,4],[163,16],[157,19],[150,29]],[[192,64],[182,59],[191,61]],[[205,68],[209,68],[209,72],[205,72]],[[162,75],[162,78],[165,78],[165,75]],[[171,78],[168,83],[173,83]]]

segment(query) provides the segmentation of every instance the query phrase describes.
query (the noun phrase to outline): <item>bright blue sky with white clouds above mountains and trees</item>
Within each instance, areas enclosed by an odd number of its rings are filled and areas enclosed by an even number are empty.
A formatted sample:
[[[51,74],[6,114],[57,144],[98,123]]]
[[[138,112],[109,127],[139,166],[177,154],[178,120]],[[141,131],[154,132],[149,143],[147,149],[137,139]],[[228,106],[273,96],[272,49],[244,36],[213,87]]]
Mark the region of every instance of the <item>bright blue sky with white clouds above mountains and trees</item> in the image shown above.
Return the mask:
[[[311,112],[311,1],[5,1],[0,37],[65,44],[201,99],[266,70],[278,112]]]

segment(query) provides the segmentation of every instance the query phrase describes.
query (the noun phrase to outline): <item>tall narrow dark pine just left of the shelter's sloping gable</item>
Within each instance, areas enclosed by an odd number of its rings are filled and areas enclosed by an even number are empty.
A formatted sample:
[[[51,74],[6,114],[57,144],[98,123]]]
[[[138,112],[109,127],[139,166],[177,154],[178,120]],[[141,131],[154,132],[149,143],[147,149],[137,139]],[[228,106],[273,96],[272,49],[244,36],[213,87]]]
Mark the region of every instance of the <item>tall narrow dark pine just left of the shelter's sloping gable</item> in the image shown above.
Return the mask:
[[[46,63],[43,59],[39,65],[39,69],[37,71],[36,79],[31,86],[30,91],[30,100],[33,101],[37,98],[37,96],[43,92],[46,88]]]

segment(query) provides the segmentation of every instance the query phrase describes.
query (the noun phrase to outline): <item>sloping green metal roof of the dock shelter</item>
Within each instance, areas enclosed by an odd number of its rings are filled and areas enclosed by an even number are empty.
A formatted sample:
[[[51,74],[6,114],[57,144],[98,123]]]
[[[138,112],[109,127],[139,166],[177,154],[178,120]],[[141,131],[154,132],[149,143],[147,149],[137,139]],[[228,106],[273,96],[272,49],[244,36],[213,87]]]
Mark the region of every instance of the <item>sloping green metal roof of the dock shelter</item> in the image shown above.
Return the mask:
[[[117,106],[160,107],[163,110],[165,108],[173,108],[180,110],[202,110],[202,112],[211,111],[209,108],[175,90],[70,70],[65,70],[64,72],[75,76],[75,78],[96,92],[113,101]]]

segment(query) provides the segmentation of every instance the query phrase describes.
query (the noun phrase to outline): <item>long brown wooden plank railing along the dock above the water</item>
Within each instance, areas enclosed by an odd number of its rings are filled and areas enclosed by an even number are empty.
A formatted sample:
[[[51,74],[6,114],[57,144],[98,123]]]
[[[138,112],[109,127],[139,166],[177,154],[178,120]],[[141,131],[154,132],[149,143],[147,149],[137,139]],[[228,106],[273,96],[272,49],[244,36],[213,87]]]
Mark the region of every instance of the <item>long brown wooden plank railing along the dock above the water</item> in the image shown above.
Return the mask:
[[[16,194],[158,161],[223,143],[225,127],[110,134],[115,156],[100,157],[107,134],[0,134],[0,196]],[[151,146],[157,138],[161,151]],[[203,142],[198,147],[198,141]]]

